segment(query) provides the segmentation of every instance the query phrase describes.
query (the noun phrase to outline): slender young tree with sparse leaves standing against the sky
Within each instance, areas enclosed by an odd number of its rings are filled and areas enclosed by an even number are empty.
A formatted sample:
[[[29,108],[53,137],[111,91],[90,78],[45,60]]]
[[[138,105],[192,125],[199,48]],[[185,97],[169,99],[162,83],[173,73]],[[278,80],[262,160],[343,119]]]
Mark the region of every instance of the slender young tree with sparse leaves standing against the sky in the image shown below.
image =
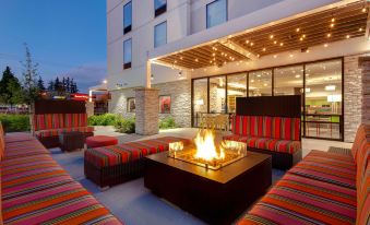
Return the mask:
[[[32,60],[31,51],[27,44],[25,46],[25,61],[21,62],[24,67],[23,69],[23,94],[24,100],[27,105],[31,105],[35,99],[38,98],[37,90],[37,68],[38,63],[34,63]]]

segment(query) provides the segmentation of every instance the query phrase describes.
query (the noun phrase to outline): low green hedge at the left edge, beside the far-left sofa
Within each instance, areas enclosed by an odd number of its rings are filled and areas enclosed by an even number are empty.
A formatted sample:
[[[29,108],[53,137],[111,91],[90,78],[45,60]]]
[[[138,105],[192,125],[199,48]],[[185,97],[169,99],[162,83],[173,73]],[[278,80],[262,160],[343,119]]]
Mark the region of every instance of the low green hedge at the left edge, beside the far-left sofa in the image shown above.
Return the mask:
[[[28,115],[0,114],[0,121],[5,132],[24,132],[31,130]]]

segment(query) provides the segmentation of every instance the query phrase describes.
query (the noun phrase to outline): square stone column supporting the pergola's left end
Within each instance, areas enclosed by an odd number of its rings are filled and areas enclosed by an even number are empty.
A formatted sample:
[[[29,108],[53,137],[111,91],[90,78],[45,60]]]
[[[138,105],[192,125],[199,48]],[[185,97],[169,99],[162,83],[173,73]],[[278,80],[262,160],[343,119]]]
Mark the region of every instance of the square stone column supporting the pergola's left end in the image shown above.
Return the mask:
[[[135,133],[153,135],[159,132],[159,90],[140,87],[135,90]]]

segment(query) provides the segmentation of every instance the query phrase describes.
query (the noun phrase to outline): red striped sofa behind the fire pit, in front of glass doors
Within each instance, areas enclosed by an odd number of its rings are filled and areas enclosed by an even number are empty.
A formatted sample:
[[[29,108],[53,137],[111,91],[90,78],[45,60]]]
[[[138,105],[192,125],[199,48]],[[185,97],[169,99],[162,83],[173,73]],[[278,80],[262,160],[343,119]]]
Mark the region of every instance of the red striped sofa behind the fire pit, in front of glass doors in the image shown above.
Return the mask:
[[[299,118],[236,115],[231,131],[224,140],[244,142],[250,151],[271,154],[275,168],[288,169],[302,157]]]

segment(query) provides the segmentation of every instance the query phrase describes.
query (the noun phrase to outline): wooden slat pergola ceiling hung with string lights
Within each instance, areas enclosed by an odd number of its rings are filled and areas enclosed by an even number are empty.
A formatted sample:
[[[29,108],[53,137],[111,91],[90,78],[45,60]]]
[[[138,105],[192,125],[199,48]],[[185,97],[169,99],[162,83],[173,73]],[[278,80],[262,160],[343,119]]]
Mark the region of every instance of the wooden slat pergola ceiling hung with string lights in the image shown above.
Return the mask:
[[[368,7],[365,8],[363,1],[359,1],[240,34],[226,42],[256,57],[289,50],[305,51],[312,46],[365,36],[368,13]],[[231,49],[230,45],[219,42],[224,43],[225,39],[158,58],[157,61],[167,66],[199,69],[249,59],[249,55],[240,54],[241,51]]]

